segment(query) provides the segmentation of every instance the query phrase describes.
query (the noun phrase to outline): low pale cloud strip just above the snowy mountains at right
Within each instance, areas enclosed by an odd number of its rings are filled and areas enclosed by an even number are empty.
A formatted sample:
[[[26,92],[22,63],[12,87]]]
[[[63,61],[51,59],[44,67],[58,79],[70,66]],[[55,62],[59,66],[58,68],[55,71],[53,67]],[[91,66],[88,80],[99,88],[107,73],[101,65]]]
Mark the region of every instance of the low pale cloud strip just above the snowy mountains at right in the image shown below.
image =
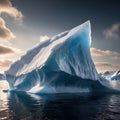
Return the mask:
[[[95,66],[98,72],[105,72],[106,70],[109,71],[117,71],[120,70],[120,64],[110,64],[107,62],[95,62]]]

